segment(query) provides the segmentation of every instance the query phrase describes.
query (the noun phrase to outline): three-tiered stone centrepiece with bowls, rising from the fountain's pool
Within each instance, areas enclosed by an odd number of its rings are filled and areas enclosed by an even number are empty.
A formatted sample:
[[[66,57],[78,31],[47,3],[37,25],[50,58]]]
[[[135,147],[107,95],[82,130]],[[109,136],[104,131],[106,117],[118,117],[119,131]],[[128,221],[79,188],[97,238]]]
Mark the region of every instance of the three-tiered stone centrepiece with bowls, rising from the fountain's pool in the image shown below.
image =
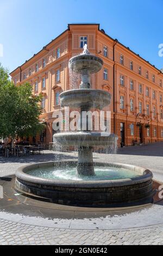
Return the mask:
[[[83,129],[83,111],[89,111],[91,108],[103,109],[110,105],[111,94],[104,90],[95,90],[91,88],[90,74],[96,73],[102,69],[103,60],[91,55],[84,46],[84,52],[79,56],[70,59],[69,68],[82,76],[80,89],[67,90],[60,94],[61,107],[80,108],[80,130],[79,132],[57,133],[54,135],[54,141],[61,146],[78,147],[77,174],[95,175],[92,159],[92,149],[96,146],[108,147],[116,146],[117,136],[101,135],[101,132],[91,132]]]

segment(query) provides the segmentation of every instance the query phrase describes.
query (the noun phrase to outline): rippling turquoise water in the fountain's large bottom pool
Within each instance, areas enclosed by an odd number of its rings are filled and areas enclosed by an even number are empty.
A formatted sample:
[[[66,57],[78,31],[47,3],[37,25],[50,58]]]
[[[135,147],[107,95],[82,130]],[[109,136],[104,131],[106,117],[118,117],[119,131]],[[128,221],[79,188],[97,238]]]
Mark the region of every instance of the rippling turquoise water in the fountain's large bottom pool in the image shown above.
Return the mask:
[[[29,170],[27,174],[46,179],[57,180],[117,180],[139,176],[136,172],[124,168],[116,167],[95,167],[95,176],[77,176],[76,167],[47,167]]]

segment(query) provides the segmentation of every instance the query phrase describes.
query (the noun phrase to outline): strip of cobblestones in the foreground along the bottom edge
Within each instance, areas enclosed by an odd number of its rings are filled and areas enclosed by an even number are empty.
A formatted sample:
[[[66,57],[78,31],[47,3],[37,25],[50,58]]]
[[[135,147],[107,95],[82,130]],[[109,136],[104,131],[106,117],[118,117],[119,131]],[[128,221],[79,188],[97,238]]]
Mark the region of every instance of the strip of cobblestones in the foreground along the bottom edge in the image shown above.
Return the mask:
[[[0,219],[1,245],[163,245],[163,225],[129,230],[53,229]]]

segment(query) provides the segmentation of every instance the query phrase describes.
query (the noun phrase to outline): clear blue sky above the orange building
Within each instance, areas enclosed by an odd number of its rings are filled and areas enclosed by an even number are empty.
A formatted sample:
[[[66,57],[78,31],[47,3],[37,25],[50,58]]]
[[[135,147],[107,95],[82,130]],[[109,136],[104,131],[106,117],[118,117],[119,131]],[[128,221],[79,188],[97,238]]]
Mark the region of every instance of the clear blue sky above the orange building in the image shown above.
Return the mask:
[[[0,0],[0,62],[12,71],[67,23],[92,22],[161,69],[162,10],[163,0]]]

